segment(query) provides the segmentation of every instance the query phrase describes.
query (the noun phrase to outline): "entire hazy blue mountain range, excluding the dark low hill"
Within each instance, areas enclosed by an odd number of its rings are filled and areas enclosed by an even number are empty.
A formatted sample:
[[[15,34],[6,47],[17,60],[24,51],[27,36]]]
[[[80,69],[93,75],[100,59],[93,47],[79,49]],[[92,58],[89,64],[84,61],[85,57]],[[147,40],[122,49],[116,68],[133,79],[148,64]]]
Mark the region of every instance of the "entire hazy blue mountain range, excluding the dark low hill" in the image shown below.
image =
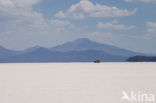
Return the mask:
[[[80,38],[51,48],[34,46],[22,51],[0,47],[0,62],[122,62],[143,53]]]

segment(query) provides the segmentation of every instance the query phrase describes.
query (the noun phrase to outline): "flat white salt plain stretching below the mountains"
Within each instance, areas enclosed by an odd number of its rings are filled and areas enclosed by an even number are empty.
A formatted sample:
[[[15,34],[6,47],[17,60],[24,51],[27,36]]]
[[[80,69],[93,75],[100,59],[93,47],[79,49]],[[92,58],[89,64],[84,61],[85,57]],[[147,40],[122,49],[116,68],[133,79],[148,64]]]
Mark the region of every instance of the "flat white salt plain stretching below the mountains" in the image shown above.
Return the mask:
[[[128,103],[156,94],[156,63],[0,64],[0,103]]]

